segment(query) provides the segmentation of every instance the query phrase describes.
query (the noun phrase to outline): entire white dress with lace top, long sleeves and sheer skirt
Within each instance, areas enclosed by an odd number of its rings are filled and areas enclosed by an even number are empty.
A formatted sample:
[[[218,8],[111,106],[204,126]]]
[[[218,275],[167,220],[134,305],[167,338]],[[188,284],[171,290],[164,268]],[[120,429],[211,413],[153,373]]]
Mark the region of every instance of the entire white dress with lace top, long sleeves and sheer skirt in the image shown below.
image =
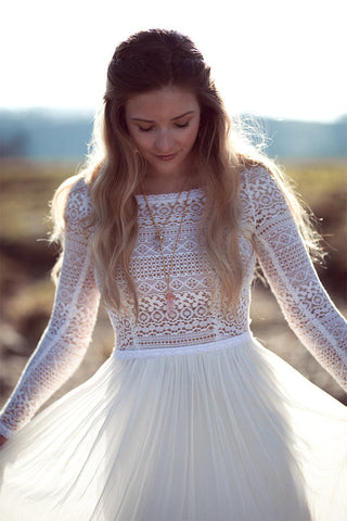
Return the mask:
[[[165,226],[171,258],[187,192]],[[164,225],[177,194],[150,195]],[[284,198],[260,167],[243,173],[244,280],[221,313],[190,193],[167,313],[159,244],[143,196],[131,274],[139,319],[110,312],[116,346],[86,383],[37,415],[79,365],[99,304],[83,180],[67,202],[64,260],[49,326],[5,405],[0,433],[3,521],[343,521],[346,408],[264,348],[249,331],[255,256],[283,313],[347,387],[347,327],[317,279]],[[124,302],[130,302],[121,272]],[[97,280],[97,282],[95,282]],[[217,288],[217,290],[216,290]],[[213,297],[215,291],[215,298]],[[216,293],[217,292],[217,293]]]

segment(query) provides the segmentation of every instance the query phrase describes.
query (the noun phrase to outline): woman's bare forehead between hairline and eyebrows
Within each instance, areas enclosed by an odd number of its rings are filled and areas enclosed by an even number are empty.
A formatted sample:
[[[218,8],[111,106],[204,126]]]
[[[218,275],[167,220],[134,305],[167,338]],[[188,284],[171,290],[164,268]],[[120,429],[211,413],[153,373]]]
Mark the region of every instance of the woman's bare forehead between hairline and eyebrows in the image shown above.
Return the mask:
[[[159,120],[198,111],[195,94],[180,87],[163,87],[131,97],[126,103],[127,117]]]

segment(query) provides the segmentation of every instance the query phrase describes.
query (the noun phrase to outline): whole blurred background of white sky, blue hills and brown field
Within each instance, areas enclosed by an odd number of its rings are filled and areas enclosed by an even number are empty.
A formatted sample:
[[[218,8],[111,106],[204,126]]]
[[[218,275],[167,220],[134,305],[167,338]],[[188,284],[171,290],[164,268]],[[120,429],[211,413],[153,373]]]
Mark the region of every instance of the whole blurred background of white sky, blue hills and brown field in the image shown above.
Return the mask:
[[[49,201],[82,164],[115,46],[150,27],[190,35],[213,66],[229,111],[261,129],[267,152],[319,218],[329,253],[319,275],[347,316],[347,104],[343,2],[13,0],[2,9],[0,58],[0,404],[52,308]],[[259,138],[255,138],[259,142]],[[344,403],[346,394],[286,326],[270,290],[253,288],[254,333]],[[114,344],[103,308],[78,371]]]

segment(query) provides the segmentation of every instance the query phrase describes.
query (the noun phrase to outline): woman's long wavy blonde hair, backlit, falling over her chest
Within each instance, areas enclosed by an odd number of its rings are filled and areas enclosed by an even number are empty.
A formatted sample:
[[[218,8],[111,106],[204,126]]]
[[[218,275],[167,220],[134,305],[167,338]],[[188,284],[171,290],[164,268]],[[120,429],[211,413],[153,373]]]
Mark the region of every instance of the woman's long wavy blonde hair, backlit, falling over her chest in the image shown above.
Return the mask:
[[[319,255],[317,234],[282,171],[258,150],[240,140],[210,78],[209,67],[194,43],[176,31],[153,29],[120,43],[107,69],[104,109],[95,118],[91,153],[82,171],[93,203],[92,246],[104,302],[121,309],[116,275],[123,271],[138,308],[130,258],[138,234],[136,192],[145,162],[136,153],[125,122],[126,101],[131,96],[175,85],[192,91],[200,103],[201,125],[192,154],[207,195],[204,237],[217,271],[226,309],[237,302],[242,287],[239,250],[237,194],[240,173],[264,165],[273,175],[301,230],[308,247]],[[70,185],[73,181],[70,182]],[[66,189],[66,185],[65,185]],[[65,190],[66,192],[66,190]],[[53,200],[55,216],[62,215],[62,190]],[[62,234],[62,218],[55,218],[53,237]]]

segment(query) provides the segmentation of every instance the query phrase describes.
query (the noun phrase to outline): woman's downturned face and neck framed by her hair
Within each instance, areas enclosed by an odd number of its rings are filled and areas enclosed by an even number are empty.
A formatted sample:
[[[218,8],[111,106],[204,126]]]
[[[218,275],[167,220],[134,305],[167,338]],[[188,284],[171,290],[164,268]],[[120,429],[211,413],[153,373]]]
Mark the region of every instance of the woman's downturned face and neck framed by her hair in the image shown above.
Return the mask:
[[[127,128],[147,162],[149,175],[190,174],[200,112],[196,97],[179,87],[165,87],[128,100]]]

